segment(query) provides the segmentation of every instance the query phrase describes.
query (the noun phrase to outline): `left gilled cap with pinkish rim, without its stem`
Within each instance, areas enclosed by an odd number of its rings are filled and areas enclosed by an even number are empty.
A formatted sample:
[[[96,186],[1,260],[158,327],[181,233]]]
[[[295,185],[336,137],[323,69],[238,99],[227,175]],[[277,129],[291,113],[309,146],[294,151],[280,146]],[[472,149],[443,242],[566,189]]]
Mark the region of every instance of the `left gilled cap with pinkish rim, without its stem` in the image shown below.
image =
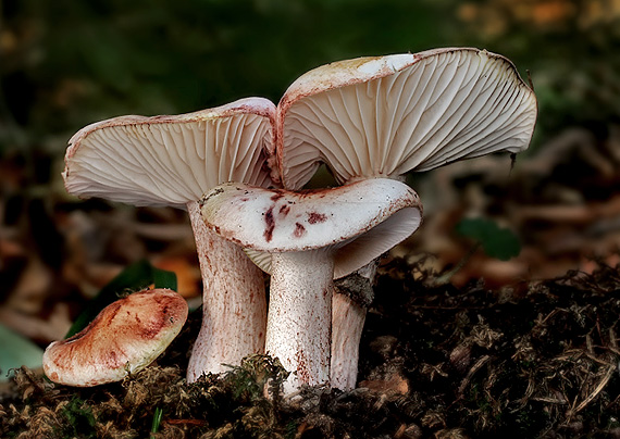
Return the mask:
[[[262,98],[175,116],[121,116],[70,140],[66,190],[134,205],[190,201],[223,181],[269,185],[275,105]]]

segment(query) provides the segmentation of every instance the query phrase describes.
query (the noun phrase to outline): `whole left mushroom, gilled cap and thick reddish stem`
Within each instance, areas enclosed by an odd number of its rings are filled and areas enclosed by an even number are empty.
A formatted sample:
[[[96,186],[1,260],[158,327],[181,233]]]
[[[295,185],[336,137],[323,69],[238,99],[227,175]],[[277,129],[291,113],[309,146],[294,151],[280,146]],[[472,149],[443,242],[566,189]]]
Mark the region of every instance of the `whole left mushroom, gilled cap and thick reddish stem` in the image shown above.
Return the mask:
[[[263,275],[237,246],[206,228],[197,202],[223,181],[272,185],[264,150],[274,113],[272,102],[248,98],[176,116],[115,117],[70,140],[63,172],[70,193],[189,213],[203,281],[189,381],[264,349]]]

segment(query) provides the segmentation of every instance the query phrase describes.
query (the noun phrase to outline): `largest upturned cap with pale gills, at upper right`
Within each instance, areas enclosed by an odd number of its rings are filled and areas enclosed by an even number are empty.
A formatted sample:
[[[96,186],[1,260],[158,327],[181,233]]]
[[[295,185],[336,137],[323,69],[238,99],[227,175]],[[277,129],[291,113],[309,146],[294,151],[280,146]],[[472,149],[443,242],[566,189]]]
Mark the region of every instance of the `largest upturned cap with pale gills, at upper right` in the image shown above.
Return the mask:
[[[533,91],[510,61],[485,50],[335,62],[299,77],[280,102],[281,179],[300,188],[321,162],[345,183],[519,152],[535,120]]]

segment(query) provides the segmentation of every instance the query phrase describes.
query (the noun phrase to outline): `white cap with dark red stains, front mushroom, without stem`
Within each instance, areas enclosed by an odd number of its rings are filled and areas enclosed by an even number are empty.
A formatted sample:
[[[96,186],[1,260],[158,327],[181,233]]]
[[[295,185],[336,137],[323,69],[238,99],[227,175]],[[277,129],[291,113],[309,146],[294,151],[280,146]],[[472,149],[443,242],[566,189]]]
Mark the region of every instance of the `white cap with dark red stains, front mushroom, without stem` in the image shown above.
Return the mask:
[[[422,216],[418,195],[385,178],[303,192],[232,183],[213,188],[200,203],[207,226],[246,248],[268,273],[268,253],[328,248],[335,251],[334,278],[407,238]]]

